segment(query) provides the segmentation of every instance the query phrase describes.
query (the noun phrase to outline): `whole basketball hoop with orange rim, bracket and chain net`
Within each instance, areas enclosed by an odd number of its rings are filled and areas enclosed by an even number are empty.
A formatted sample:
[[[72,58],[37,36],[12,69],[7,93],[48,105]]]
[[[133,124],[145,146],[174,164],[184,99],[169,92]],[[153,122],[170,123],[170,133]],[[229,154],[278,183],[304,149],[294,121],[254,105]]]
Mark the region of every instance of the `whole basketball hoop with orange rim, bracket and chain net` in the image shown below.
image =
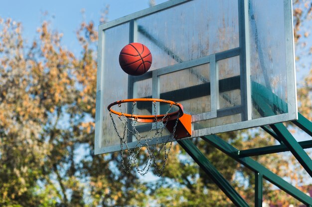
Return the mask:
[[[137,102],[152,102],[154,115],[134,114],[134,109]],[[169,105],[166,113],[159,115],[157,114],[156,102],[166,103]],[[131,114],[123,111],[122,104],[124,103],[132,103]],[[112,109],[112,107],[115,105],[118,106],[119,111]],[[177,110],[171,112],[173,106],[176,106],[175,108],[177,108]],[[179,103],[155,98],[136,98],[116,101],[111,103],[107,108],[110,112],[110,117],[112,119],[117,136],[120,138],[122,167],[127,173],[130,172],[131,167],[134,164],[138,173],[145,175],[148,173],[152,161],[154,161],[156,175],[160,177],[163,173],[163,169],[172,146],[172,141],[174,139],[191,136],[191,116],[183,113],[183,106]],[[121,121],[123,126],[123,133],[119,133],[113,118],[113,114],[117,115],[118,119]],[[153,124],[151,130],[142,136],[136,129],[137,122]],[[169,131],[169,135],[164,136],[164,128]],[[176,133],[176,130],[179,132]],[[131,137],[137,139],[137,144],[134,149],[131,149],[132,147],[128,146],[128,139]],[[169,143],[169,146],[167,146],[167,143]],[[155,146],[152,147],[152,145]],[[146,147],[148,152],[148,159],[145,162],[144,167],[140,169],[137,156],[142,147]],[[124,150],[128,150],[127,166],[125,166]],[[159,156],[162,150],[164,153],[163,163],[161,167],[158,167],[156,164],[156,158]]]

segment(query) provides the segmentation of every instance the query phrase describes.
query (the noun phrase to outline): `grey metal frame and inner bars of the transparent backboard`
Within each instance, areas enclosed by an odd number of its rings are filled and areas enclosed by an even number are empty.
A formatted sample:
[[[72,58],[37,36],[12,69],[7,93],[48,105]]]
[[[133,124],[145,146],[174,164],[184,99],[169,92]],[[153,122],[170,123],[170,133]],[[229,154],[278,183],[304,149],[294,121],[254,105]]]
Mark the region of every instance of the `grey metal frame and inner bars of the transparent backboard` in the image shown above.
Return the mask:
[[[99,26],[99,44],[98,44],[98,71],[97,71],[97,96],[96,96],[96,125],[95,125],[95,154],[108,153],[120,150],[120,144],[114,146],[101,147],[101,138],[103,134],[103,116],[104,110],[107,106],[104,106],[104,95],[103,92],[107,90],[104,88],[104,48],[105,48],[105,30],[129,22],[129,43],[137,41],[137,32],[140,30],[138,28],[136,19],[142,18],[144,16],[159,12],[161,10],[168,9],[170,7],[183,4],[192,0],[169,0],[164,3],[158,4],[156,6],[138,11],[136,13],[130,14],[128,16],[116,19],[114,21],[102,24]],[[191,67],[200,66],[203,64],[210,64],[210,84],[207,90],[210,90],[211,96],[211,111],[201,114],[192,115],[192,122],[198,122],[202,120],[208,120],[216,117],[223,117],[232,114],[240,113],[242,116],[242,122],[232,123],[222,126],[215,126],[205,129],[193,130],[192,137],[208,136],[212,134],[270,125],[285,121],[297,120],[297,93],[296,93],[296,73],[295,73],[295,54],[294,54],[294,37],[293,37],[293,17],[292,17],[292,0],[284,0],[284,22],[285,22],[285,39],[286,39],[286,50],[288,51],[286,60],[286,71],[287,71],[287,107],[288,113],[278,114],[270,117],[263,117],[252,120],[252,90],[251,90],[251,80],[250,80],[250,57],[249,57],[249,19],[248,19],[248,5],[249,0],[238,0],[239,9],[239,47],[230,49],[227,51],[211,54],[199,59],[177,63],[172,66],[148,71],[141,76],[128,76],[128,97],[120,97],[120,99],[125,98],[135,98],[133,97],[133,84],[136,81],[145,80],[152,78],[152,98],[168,99],[169,94],[160,94],[159,92],[159,76],[174,71],[179,71],[182,69],[187,69]],[[291,21],[290,21],[291,19]],[[218,61],[237,57],[240,58],[240,77],[237,78],[238,86],[241,90],[241,105],[229,107],[225,109],[218,109],[218,97],[219,97],[219,84],[218,80]],[[234,85],[235,87],[235,85]],[[199,88],[198,88],[199,89]],[[116,100],[117,101],[117,100]],[[144,126],[142,126],[144,127]],[[192,128],[193,129],[193,128]],[[136,142],[129,140],[129,146],[134,147]]]

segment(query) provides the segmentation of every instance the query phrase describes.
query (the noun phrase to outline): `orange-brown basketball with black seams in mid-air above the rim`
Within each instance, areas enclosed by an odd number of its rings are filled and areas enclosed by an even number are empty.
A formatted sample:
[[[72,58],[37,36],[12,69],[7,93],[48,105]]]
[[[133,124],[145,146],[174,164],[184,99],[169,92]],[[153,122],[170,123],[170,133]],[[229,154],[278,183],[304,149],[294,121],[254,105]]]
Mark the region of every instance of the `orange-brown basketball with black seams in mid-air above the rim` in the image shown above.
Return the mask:
[[[151,51],[141,43],[130,43],[120,51],[119,64],[130,75],[142,75],[151,68]]]

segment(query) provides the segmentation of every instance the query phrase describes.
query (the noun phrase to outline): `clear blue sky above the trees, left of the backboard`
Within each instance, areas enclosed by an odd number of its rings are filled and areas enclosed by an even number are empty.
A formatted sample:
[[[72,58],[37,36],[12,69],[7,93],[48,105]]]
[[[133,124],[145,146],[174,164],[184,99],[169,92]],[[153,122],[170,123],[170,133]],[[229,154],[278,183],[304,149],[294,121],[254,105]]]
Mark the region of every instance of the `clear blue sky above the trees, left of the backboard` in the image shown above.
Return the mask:
[[[156,4],[166,0],[155,0]],[[149,0],[1,0],[0,17],[10,17],[23,25],[23,36],[31,41],[43,20],[64,34],[63,45],[78,52],[75,31],[85,18],[99,24],[101,12],[109,5],[108,20],[149,7]],[[84,15],[81,10],[84,9]],[[48,15],[44,16],[47,12]]]

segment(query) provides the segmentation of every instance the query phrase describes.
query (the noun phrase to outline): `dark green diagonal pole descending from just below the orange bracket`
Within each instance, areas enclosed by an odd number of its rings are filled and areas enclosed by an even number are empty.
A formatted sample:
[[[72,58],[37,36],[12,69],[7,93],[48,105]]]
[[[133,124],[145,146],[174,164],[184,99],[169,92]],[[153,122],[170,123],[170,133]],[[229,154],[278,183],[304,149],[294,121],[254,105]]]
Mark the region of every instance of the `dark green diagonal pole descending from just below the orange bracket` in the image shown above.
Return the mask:
[[[221,173],[209,162],[201,151],[190,139],[181,139],[177,142],[195,160],[195,162],[207,173],[210,179],[223,191],[223,193],[237,207],[249,207],[246,201],[235,191]]]

